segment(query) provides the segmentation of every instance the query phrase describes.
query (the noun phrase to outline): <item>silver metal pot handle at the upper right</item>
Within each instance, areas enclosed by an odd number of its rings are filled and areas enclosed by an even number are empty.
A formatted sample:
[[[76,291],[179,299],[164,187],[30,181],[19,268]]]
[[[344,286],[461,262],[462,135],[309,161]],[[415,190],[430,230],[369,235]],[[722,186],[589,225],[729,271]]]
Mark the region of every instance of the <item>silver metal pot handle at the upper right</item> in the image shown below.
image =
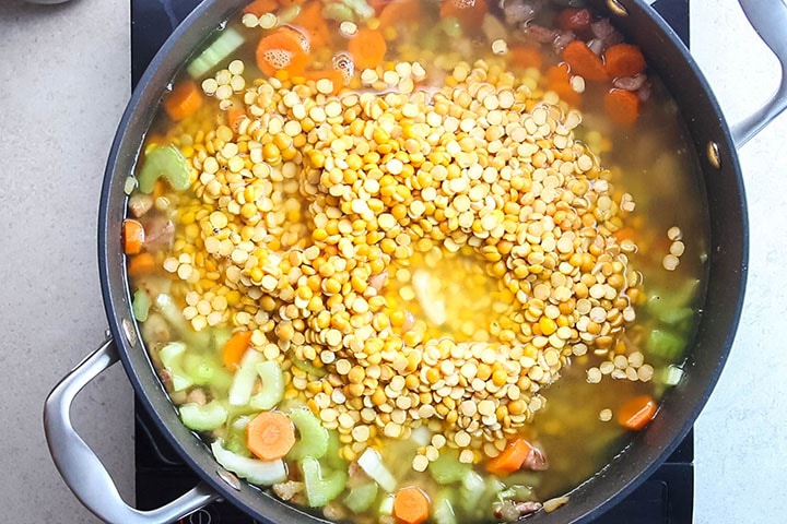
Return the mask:
[[[787,109],[787,4],[784,0],[738,0],[760,38],[771,48],[782,66],[782,79],[776,93],[753,115],[732,126],[736,147],[749,142],[773,119]]]

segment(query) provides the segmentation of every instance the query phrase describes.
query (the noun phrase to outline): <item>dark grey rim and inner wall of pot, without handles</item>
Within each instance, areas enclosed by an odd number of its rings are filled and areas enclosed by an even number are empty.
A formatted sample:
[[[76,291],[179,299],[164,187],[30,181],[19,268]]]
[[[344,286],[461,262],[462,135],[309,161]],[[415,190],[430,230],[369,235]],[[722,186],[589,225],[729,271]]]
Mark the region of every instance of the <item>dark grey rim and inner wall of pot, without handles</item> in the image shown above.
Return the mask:
[[[137,397],[189,468],[195,471],[222,497],[256,519],[272,522],[301,522],[302,520],[327,522],[284,503],[246,483],[239,483],[238,489],[233,481],[226,479],[227,475],[230,477],[234,477],[234,475],[223,471],[214,461],[208,445],[180,422],[175,406],[161,384],[148,353],[141,344],[138,326],[130,312],[130,293],[122,263],[124,255],[120,243],[117,241],[120,238],[120,223],[126,209],[126,196],[122,192],[124,181],[129,174],[133,172],[144,132],[153,118],[161,94],[165,86],[169,85],[172,78],[185,62],[184,58],[191,53],[195,46],[212,31],[215,31],[221,21],[226,20],[231,13],[246,3],[248,0],[205,0],[200,3],[155,55],[132,94],[113,141],[101,193],[98,265],[102,294],[110,331]],[[601,0],[592,3],[598,4],[600,10],[607,10],[606,2]],[[621,500],[649,477],[685,438],[709,397],[727,359],[740,318],[745,288],[749,226],[744,190],[737,152],[718,103],[691,55],[666,22],[642,0],[619,0],[619,3],[626,8],[630,20],[636,23],[648,23],[657,29],[657,38],[667,49],[661,55],[671,57],[670,59],[673,59],[676,55],[680,58],[681,61],[678,64],[680,68],[676,68],[676,70],[685,70],[682,74],[686,75],[690,81],[688,87],[694,90],[695,96],[702,97],[706,105],[704,112],[710,115],[709,117],[706,115],[703,118],[694,118],[693,115],[690,115],[692,109],[689,107],[684,111],[684,119],[691,122],[698,119],[700,123],[709,128],[704,133],[696,130],[696,126],[690,128],[691,136],[698,152],[697,156],[702,165],[700,169],[704,177],[705,189],[708,193],[714,193],[708,198],[709,210],[713,211],[714,205],[724,204],[725,200],[732,202],[733,209],[719,209],[715,213],[716,219],[719,221],[718,224],[715,223],[714,216],[710,217],[710,246],[708,247],[710,271],[708,272],[708,290],[705,301],[708,307],[705,309],[714,312],[717,308],[716,301],[720,300],[724,303],[718,306],[716,314],[706,312],[702,317],[698,327],[697,336],[702,336],[703,333],[710,334],[708,335],[710,341],[707,344],[701,344],[703,346],[701,349],[707,349],[717,357],[714,359],[715,365],[712,367],[697,366],[702,360],[697,361],[696,359],[697,345],[695,341],[692,350],[688,352],[686,368],[691,369],[688,369],[686,377],[690,380],[684,380],[662,398],[660,410],[667,413],[674,410],[682,416],[677,418],[657,417],[611,464],[575,488],[569,493],[572,502],[556,513],[559,516],[555,519],[561,519],[561,522],[580,523],[598,517],[613,502]],[[646,55],[649,61],[654,57]],[[663,64],[656,69],[666,81],[674,73],[672,67],[666,69]],[[684,96],[674,90],[672,90],[672,94],[676,99],[691,96]],[[686,107],[685,100],[680,106],[682,109]],[[702,136],[700,136],[701,134]],[[712,136],[713,140],[706,136]],[[708,141],[720,144],[721,169],[716,169],[703,154]],[[719,180],[724,181],[720,189],[718,188]],[[720,196],[716,193],[724,191],[727,191],[728,194],[726,199],[719,200]],[[719,227],[721,230],[725,229],[720,224],[724,218],[727,222],[732,221],[733,235],[719,239],[716,229]],[[714,271],[721,271],[723,274],[716,275]],[[716,285],[710,286],[712,282],[716,282]],[[725,288],[724,293],[718,293],[723,287]],[[716,333],[719,331],[720,334]],[[689,402],[690,406],[686,406],[685,402]],[[630,460],[633,454],[636,461]],[[601,487],[598,487],[599,485]],[[552,522],[550,514],[543,512],[532,515],[528,521],[533,523]]]

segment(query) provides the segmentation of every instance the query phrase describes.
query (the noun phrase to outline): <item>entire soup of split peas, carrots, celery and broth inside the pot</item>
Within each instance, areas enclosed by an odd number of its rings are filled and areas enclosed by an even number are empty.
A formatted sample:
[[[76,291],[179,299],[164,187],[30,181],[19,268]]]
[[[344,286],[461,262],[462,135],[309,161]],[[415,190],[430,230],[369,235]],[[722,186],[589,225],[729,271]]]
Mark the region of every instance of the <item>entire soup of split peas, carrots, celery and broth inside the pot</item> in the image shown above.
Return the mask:
[[[555,509],[625,448],[680,380],[707,245],[678,109],[625,46],[483,0],[257,0],[209,38],[124,245],[220,464],[331,520],[450,524]]]

